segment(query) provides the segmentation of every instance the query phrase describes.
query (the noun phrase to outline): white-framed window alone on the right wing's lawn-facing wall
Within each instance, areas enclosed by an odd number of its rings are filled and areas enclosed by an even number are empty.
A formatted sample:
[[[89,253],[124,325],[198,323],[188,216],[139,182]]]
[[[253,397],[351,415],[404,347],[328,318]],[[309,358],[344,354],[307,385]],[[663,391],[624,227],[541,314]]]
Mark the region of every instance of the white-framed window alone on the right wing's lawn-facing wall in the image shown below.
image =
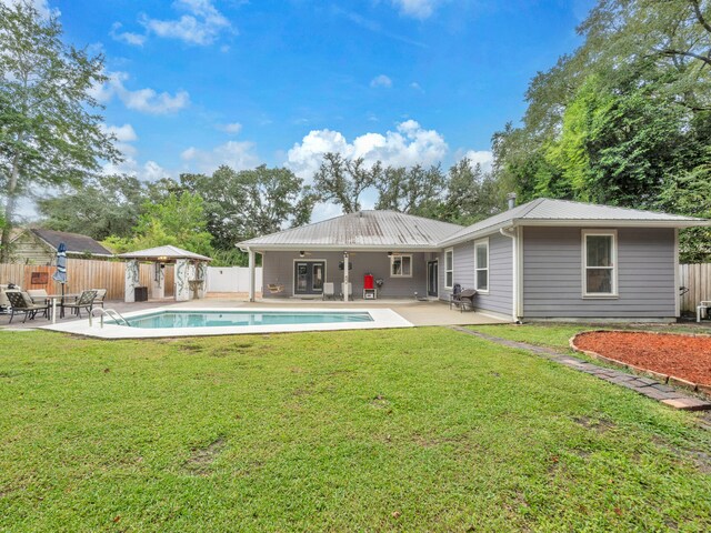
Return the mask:
[[[583,230],[583,295],[617,295],[617,231]]]

